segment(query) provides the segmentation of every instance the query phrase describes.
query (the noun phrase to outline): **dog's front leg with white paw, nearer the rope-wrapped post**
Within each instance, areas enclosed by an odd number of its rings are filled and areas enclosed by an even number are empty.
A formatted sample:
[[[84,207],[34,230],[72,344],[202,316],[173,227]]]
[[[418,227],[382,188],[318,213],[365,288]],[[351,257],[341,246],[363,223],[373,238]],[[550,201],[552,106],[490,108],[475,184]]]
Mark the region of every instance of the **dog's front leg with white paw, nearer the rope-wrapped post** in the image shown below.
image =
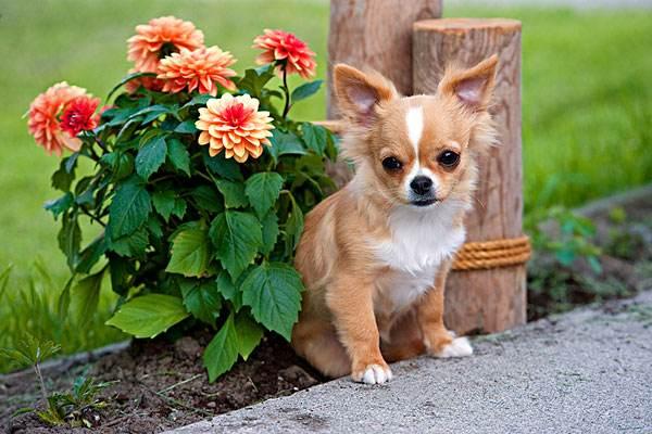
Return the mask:
[[[464,357],[473,354],[466,337],[455,337],[443,324],[443,289],[450,264],[435,278],[435,285],[417,303],[417,318],[426,350],[434,357]]]

